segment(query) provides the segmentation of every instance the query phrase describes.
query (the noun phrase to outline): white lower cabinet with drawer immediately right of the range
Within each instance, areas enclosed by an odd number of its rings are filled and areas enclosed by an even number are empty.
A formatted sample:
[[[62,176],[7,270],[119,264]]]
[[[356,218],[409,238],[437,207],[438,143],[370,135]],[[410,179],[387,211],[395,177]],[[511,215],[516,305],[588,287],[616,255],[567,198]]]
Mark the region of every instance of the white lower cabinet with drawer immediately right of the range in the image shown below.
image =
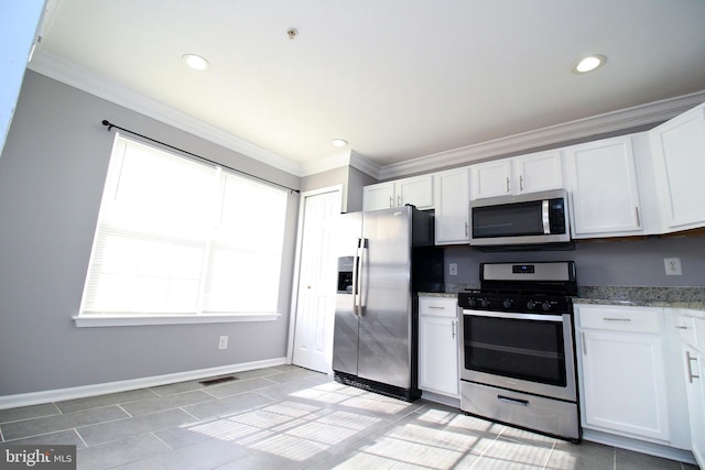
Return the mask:
[[[576,305],[584,428],[669,445],[663,309]]]

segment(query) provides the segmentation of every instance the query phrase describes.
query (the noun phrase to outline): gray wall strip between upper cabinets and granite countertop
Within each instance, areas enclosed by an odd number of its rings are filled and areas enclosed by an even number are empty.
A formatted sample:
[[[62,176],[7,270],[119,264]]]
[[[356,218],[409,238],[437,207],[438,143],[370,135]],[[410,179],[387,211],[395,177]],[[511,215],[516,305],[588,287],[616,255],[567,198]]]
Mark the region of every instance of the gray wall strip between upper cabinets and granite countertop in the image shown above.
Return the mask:
[[[469,245],[445,249],[446,282],[479,284],[479,263],[575,261],[578,286],[705,286],[705,237],[578,241],[574,251],[488,253]],[[680,258],[682,276],[666,276],[664,258]],[[458,275],[449,276],[448,264]]]

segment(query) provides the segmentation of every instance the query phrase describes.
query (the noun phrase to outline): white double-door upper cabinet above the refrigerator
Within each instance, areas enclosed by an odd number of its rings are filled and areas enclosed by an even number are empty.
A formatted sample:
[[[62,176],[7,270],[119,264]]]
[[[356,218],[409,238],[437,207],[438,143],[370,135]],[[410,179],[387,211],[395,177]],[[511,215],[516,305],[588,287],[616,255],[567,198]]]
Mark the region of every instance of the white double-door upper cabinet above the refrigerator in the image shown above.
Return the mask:
[[[362,210],[388,209],[408,204],[421,210],[433,209],[433,175],[365,186],[362,193]]]

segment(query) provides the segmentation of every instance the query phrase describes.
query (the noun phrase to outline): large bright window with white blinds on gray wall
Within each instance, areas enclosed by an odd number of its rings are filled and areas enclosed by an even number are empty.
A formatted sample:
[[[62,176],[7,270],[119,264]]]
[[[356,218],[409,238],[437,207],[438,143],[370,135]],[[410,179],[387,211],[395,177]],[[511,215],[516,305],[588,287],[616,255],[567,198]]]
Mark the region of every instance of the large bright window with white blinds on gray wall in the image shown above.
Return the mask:
[[[285,212],[282,189],[118,134],[77,325],[275,316]]]

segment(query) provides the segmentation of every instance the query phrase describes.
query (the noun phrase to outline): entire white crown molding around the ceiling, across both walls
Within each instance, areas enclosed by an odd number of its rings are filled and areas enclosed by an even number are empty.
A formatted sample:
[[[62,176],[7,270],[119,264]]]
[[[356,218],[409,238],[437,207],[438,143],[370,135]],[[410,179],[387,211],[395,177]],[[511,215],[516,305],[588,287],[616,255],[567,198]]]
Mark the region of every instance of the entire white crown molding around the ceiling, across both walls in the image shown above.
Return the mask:
[[[28,68],[299,177],[346,165],[378,181],[430,173],[533,149],[560,145],[568,141],[604,133],[626,131],[640,125],[655,125],[705,101],[705,90],[696,91],[384,166],[378,165],[355,151],[349,151],[347,155],[299,164],[166,105],[131,91],[113,80],[54,54],[36,51]]]

